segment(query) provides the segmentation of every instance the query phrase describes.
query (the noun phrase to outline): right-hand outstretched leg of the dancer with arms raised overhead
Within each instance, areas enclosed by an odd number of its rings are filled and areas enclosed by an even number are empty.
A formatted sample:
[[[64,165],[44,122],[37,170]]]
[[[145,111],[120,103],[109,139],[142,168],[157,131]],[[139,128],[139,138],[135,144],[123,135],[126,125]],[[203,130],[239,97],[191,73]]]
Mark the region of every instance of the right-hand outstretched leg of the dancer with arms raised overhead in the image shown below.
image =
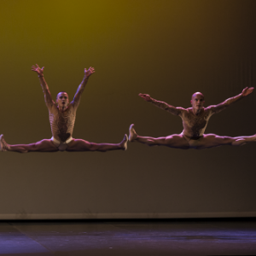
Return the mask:
[[[121,143],[109,144],[109,143],[89,143],[81,139],[73,139],[72,142],[67,144],[67,151],[108,151],[108,150],[117,150],[127,149],[128,137],[125,134],[124,139]]]

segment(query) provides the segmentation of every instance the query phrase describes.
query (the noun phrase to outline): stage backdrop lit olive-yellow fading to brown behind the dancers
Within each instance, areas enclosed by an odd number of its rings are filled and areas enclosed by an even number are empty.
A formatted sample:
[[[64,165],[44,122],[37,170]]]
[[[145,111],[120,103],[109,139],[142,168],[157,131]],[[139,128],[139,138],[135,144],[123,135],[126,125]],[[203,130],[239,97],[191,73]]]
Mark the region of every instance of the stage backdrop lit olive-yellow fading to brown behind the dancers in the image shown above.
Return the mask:
[[[73,137],[119,143],[180,133],[181,119],[144,102],[148,93],[190,107],[255,86],[256,1],[0,2],[0,133],[7,143],[51,137],[32,64],[53,97],[73,98],[95,67]],[[256,91],[212,116],[207,133],[256,132]],[[256,216],[256,143],[205,150],[148,147],[107,153],[0,153],[0,218],[183,218]]]

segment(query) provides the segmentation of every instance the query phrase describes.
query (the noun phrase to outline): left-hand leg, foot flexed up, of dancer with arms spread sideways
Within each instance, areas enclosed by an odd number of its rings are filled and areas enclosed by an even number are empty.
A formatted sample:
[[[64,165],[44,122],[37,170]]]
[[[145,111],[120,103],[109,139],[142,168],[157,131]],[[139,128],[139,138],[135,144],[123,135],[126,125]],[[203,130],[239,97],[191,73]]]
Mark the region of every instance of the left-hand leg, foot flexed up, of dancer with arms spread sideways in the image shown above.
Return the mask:
[[[130,142],[144,143],[148,146],[166,146],[170,148],[189,149],[189,143],[182,134],[173,134],[171,136],[157,138],[142,137],[137,135],[136,131],[134,130],[134,125],[130,126],[129,132]]]

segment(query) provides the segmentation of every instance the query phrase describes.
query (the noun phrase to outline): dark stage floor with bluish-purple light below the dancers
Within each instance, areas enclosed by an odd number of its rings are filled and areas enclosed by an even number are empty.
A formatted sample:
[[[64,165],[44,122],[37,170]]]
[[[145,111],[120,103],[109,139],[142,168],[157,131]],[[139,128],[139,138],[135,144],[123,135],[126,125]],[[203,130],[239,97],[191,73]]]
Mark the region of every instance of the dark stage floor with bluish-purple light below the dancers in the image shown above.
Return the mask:
[[[256,218],[2,221],[0,255],[256,255]]]

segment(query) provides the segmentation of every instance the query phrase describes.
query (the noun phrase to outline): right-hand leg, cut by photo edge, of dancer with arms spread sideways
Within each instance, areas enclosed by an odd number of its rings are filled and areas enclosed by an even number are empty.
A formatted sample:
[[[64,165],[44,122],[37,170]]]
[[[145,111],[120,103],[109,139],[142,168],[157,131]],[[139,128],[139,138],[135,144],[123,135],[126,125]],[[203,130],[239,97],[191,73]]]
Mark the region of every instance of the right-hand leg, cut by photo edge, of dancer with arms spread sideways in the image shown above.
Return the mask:
[[[196,145],[196,149],[213,148],[218,146],[242,146],[256,142],[256,134],[253,136],[227,137],[215,134],[205,134]],[[190,143],[190,142],[189,142]]]

